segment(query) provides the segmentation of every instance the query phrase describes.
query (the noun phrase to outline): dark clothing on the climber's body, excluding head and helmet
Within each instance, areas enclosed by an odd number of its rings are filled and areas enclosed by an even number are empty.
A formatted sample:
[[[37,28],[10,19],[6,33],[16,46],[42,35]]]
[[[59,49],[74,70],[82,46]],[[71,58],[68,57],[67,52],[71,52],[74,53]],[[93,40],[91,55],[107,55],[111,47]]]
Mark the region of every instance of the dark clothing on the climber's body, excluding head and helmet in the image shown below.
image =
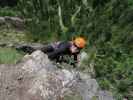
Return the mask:
[[[56,59],[57,61],[61,56],[70,55],[73,56],[74,60],[77,61],[77,55],[79,52],[72,54],[70,51],[71,43],[66,42],[55,42],[49,45],[20,45],[16,49],[24,51],[26,53],[32,53],[35,50],[41,50],[46,53],[48,57],[52,60]]]

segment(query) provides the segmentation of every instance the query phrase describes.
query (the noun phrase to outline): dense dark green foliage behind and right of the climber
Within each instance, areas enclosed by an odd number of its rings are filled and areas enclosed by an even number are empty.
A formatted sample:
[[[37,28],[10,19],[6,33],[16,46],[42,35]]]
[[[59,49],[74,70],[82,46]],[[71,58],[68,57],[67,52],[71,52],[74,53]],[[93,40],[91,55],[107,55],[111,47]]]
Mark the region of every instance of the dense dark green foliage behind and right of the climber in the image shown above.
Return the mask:
[[[84,35],[86,63],[94,63],[101,88],[113,91],[116,100],[133,99],[133,0],[16,1],[3,0],[0,16],[24,18],[33,42]]]

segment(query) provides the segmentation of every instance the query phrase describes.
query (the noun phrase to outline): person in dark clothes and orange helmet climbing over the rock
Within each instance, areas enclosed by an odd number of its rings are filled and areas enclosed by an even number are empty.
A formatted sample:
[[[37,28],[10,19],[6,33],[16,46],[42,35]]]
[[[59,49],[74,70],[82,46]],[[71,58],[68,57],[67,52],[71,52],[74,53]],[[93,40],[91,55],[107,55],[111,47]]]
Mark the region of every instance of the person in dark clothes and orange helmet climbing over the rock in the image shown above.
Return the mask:
[[[86,45],[86,40],[83,37],[77,37],[72,41],[59,41],[49,45],[44,45],[41,48],[34,48],[32,46],[21,46],[17,49],[21,49],[26,53],[32,53],[35,50],[41,50],[46,53],[51,60],[60,62],[63,60],[61,57],[64,55],[73,56],[74,62],[78,62],[78,54],[80,50]]]

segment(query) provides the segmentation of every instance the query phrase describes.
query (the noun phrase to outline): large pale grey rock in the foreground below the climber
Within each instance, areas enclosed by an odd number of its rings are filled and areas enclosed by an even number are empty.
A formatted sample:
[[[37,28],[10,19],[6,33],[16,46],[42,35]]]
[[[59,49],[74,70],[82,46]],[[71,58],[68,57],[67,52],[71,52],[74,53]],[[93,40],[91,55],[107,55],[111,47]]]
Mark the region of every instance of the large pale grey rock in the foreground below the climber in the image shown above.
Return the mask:
[[[66,96],[92,100],[102,94],[98,91],[95,79],[78,71],[58,69],[41,51],[26,55],[16,65],[0,65],[0,100],[70,100]]]

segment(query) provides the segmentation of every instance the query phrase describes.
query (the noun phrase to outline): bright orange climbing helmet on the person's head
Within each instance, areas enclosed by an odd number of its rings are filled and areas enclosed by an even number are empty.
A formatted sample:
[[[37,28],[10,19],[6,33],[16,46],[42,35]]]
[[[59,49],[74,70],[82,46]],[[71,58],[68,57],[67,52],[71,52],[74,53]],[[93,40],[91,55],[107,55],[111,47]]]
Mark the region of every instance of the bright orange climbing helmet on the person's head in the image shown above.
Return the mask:
[[[84,48],[86,45],[86,40],[83,37],[77,37],[74,39],[74,44],[78,47],[78,48]]]

